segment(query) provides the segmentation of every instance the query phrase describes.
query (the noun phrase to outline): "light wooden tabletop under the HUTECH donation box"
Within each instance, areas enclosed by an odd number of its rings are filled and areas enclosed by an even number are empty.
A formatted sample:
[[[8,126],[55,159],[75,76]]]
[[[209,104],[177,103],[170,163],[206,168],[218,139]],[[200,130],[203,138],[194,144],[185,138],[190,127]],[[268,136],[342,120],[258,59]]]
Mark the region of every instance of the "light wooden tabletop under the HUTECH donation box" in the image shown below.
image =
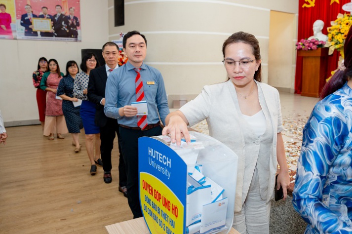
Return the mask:
[[[105,226],[109,234],[150,234],[144,218],[131,219],[117,224]],[[239,234],[234,228],[231,228],[229,234]]]

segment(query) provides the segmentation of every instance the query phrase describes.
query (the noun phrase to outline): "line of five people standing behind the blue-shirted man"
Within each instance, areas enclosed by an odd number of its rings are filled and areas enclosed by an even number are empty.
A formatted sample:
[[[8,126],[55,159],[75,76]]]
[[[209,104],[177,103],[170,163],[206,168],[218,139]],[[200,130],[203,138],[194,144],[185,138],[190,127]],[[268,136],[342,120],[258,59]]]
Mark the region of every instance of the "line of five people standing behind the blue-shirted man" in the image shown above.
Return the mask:
[[[97,165],[104,169],[103,180],[112,182],[111,152],[114,139],[119,135],[115,119],[104,115],[102,103],[105,103],[105,83],[111,70],[118,68],[119,49],[116,43],[107,42],[103,46],[106,65],[99,67],[97,56],[86,53],[80,64],[68,61],[66,75],[60,72],[55,59],[47,61],[41,57],[38,69],[33,73],[33,84],[37,88],[37,104],[39,120],[43,135],[49,140],[64,139],[67,132],[71,133],[75,152],[80,151],[80,129],[84,127],[85,148],[91,163],[90,174],[97,172]],[[88,80],[97,79],[88,91]],[[103,99],[103,101],[102,101]],[[81,104],[79,104],[81,100]],[[119,144],[119,192],[127,196],[126,172]],[[100,158],[101,156],[101,158]]]

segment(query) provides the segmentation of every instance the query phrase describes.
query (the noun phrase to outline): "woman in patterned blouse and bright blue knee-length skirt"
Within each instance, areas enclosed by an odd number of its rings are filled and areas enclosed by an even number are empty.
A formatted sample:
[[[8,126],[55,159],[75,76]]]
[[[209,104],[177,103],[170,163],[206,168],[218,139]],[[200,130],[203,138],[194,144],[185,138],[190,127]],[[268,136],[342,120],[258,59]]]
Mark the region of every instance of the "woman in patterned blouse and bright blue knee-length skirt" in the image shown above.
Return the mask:
[[[90,102],[87,97],[87,87],[90,70],[99,67],[97,56],[93,53],[86,53],[82,58],[80,69],[74,83],[74,97],[82,99],[80,106],[80,117],[82,118],[85,132],[85,148],[91,163],[90,174],[94,175],[97,171],[97,166],[103,166],[100,159],[100,129],[94,123],[95,104]],[[95,156],[94,156],[95,146]]]

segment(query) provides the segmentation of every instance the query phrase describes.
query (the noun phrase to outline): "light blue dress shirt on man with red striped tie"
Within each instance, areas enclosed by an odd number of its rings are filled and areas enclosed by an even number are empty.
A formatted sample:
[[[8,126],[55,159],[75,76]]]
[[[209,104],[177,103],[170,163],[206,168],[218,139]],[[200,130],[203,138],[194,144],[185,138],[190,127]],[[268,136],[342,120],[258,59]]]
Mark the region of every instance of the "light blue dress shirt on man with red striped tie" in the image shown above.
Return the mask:
[[[161,121],[165,125],[165,118],[170,111],[161,73],[157,69],[143,63],[140,74],[148,106],[148,124],[157,123],[160,116]],[[121,107],[130,106],[132,102],[136,102],[136,76],[137,73],[134,71],[134,67],[127,62],[110,73],[105,89],[105,115],[117,118],[119,124],[129,127],[138,127],[137,116],[121,117],[118,114],[118,110]]]

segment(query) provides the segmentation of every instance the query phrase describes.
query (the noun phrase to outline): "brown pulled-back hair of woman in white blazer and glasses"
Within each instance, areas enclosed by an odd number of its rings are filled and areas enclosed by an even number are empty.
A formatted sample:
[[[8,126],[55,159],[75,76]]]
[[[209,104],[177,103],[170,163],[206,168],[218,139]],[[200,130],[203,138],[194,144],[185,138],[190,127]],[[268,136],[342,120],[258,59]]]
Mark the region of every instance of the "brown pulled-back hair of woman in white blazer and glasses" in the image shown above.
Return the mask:
[[[254,35],[249,34],[249,33],[244,33],[244,32],[237,32],[231,35],[228,39],[224,41],[223,44],[223,56],[225,58],[225,49],[227,46],[237,43],[237,42],[242,42],[245,44],[248,44],[252,47],[252,53],[255,57],[255,60],[260,60],[260,47],[259,47],[259,41],[254,37]],[[229,78],[230,79],[230,78]],[[258,70],[254,73],[254,79],[257,80],[258,82],[262,81],[262,64],[259,65]]]

